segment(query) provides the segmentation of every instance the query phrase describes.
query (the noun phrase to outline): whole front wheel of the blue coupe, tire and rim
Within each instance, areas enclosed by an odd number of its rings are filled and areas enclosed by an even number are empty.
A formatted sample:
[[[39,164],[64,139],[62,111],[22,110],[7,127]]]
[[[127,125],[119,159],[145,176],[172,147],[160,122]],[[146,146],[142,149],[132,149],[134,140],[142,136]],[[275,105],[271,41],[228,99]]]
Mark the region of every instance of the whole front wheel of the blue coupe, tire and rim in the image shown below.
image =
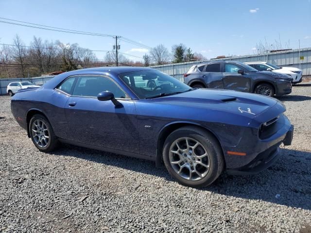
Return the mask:
[[[171,176],[186,186],[213,183],[224,170],[224,156],[215,137],[198,127],[182,127],[164,144],[164,164]]]

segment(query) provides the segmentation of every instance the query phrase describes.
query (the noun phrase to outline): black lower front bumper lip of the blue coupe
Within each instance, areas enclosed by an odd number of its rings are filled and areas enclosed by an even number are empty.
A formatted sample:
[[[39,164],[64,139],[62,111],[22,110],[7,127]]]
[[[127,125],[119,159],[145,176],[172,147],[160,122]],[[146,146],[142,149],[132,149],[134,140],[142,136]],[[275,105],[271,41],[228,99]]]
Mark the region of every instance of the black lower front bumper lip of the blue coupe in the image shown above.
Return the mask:
[[[280,157],[279,145],[283,142],[285,146],[292,144],[294,126],[286,133],[284,139],[281,142],[273,145],[269,149],[259,153],[255,159],[245,166],[236,169],[227,169],[227,173],[231,175],[252,175],[257,174],[268,167],[272,166],[276,160]]]

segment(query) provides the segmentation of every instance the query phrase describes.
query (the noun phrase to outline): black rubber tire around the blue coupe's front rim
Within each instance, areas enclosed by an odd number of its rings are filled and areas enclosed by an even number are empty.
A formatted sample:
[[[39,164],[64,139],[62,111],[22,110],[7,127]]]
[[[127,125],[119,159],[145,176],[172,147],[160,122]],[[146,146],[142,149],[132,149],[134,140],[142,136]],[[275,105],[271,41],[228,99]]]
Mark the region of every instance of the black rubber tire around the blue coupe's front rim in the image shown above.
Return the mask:
[[[183,178],[181,175],[178,175],[176,171],[176,165],[171,164],[170,156],[172,158],[172,156],[174,156],[173,154],[175,154],[171,152],[172,146],[176,142],[176,140],[179,140],[180,138],[188,138],[188,139],[190,138],[190,140],[194,139],[194,141],[199,142],[201,144],[200,146],[203,146],[205,151],[207,152],[209,168],[206,168],[207,174],[203,176],[203,178],[200,178],[198,176],[197,179],[199,180],[192,180],[192,181],[190,181],[189,179],[187,180],[186,178]],[[192,149],[192,150],[194,151],[197,149]],[[178,157],[180,158],[180,161],[181,161],[182,160],[181,156],[178,155]],[[185,157],[183,158],[185,159]],[[163,148],[163,160],[164,160],[164,164],[168,172],[178,183],[186,185],[186,186],[194,187],[194,188],[204,187],[204,186],[207,186],[213,183],[220,176],[220,174],[223,172],[224,167],[225,167],[224,155],[223,155],[222,149],[220,148],[218,140],[211,133],[208,133],[207,131],[199,127],[195,127],[195,126],[194,127],[192,126],[182,127],[180,129],[175,130],[173,133],[171,133],[167,137],[164,143],[164,148]],[[185,162],[181,162],[181,163],[185,164]],[[180,166],[180,164],[178,166]],[[195,170],[200,168],[200,167],[198,168],[198,166],[200,165],[198,164],[195,165]],[[177,170],[178,168],[179,167],[177,167]]]

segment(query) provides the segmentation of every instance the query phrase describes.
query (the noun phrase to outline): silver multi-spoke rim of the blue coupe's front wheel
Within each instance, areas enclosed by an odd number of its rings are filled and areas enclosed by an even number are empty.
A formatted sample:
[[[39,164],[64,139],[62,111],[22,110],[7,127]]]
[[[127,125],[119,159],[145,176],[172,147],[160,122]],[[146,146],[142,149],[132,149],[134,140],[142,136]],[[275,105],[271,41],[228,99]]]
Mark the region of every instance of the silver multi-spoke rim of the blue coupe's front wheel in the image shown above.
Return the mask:
[[[203,179],[209,171],[209,155],[204,146],[190,137],[175,140],[170,147],[169,159],[173,170],[189,181]]]

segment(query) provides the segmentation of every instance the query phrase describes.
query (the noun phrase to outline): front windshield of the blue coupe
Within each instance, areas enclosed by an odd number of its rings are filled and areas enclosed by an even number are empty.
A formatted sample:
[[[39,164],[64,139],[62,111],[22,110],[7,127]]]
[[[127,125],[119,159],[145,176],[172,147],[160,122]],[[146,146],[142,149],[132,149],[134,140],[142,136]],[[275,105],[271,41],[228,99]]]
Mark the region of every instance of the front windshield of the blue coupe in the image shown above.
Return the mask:
[[[173,95],[192,89],[185,83],[158,70],[122,73],[119,77],[140,99]]]

